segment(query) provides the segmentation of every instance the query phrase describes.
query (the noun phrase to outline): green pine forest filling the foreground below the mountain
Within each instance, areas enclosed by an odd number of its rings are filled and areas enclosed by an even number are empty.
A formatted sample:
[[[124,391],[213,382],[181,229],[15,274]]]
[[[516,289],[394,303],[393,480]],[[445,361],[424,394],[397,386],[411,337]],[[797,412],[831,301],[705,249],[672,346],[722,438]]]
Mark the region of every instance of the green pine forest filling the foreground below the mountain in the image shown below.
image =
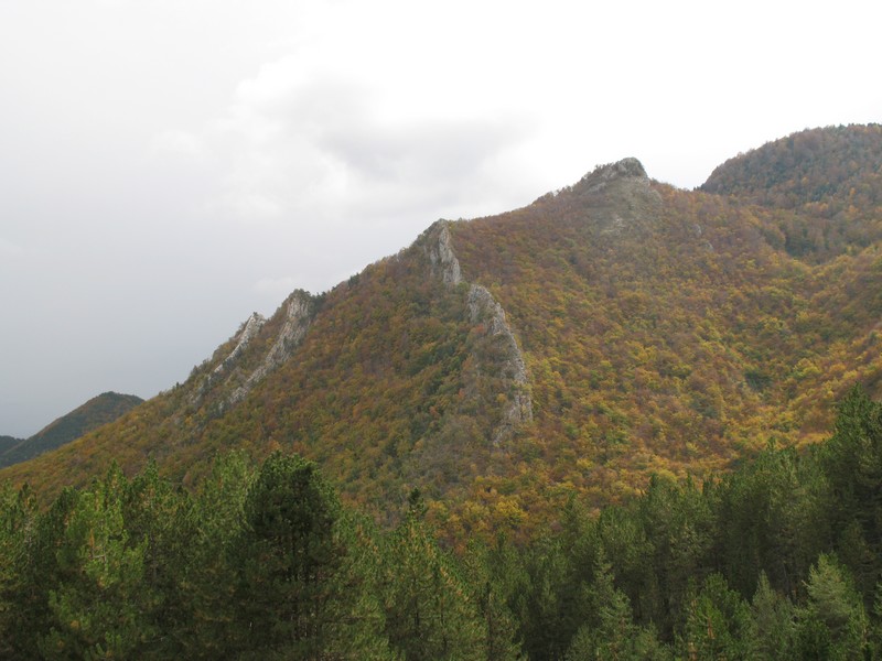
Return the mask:
[[[318,467],[219,457],[194,490],[112,467],[0,492],[4,659],[880,659],[882,405],[703,484],[569,500],[529,539],[378,529]]]

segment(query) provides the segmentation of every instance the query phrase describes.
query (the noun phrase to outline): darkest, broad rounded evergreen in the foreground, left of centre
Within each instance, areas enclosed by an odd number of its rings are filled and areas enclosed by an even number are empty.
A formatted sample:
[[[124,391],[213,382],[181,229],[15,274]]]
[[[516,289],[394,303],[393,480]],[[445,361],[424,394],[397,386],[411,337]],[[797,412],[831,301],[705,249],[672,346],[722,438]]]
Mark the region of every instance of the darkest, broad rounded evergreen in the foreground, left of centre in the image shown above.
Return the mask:
[[[233,550],[237,648],[254,658],[322,658],[347,598],[337,581],[345,548],[336,495],[315,464],[276,453],[248,490],[244,513]]]

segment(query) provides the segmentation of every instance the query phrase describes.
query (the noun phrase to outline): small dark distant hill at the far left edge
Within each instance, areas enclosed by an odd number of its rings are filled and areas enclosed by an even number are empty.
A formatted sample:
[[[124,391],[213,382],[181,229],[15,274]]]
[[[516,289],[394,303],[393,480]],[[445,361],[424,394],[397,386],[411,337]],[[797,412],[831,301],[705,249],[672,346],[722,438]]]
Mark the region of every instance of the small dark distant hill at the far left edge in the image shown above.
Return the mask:
[[[141,402],[143,400],[133,394],[104,392],[62,415],[30,438],[2,436],[0,437],[0,467],[26,462],[71,443],[83,434],[112,422]]]

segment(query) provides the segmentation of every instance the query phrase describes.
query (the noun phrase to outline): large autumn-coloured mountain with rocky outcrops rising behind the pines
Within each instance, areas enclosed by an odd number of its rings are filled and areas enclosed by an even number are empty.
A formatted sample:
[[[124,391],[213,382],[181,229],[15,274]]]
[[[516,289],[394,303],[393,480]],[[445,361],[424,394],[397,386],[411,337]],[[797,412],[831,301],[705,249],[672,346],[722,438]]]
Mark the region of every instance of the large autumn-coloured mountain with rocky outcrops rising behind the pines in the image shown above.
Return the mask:
[[[439,220],[0,478],[51,495],[153,458],[193,484],[217,452],[286,448],[379,518],[419,488],[463,537],[813,443],[853,383],[882,394],[880,154],[876,126],[818,129],[697,191],[625,159],[521,209]]]

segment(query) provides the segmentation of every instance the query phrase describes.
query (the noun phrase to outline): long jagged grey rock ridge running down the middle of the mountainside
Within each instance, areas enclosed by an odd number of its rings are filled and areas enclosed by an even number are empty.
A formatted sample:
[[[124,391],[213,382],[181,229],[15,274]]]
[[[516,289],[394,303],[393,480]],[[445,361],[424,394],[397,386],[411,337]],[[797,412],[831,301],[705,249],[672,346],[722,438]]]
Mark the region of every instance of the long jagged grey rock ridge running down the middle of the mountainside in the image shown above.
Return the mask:
[[[451,286],[463,282],[448,221],[437,221],[423,232],[419,241],[422,242],[423,251],[429,258],[431,277],[440,278]],[[471,284],[466,295],[469,322],[473,326],[483,326],[484,333],[497,348],[495,354],[503,356],[502,360],[492,364],[487,362],[486,358],[474,356],[481,369],[492,372],[502,383],[502,389],[497,392],[503,400],[499,423],[492,434],[494,446],[498,446],[512,436],[518,425],[533,420],[527,367],[515,334],[506,319],[505,311],[490,290],[480,284]]]

